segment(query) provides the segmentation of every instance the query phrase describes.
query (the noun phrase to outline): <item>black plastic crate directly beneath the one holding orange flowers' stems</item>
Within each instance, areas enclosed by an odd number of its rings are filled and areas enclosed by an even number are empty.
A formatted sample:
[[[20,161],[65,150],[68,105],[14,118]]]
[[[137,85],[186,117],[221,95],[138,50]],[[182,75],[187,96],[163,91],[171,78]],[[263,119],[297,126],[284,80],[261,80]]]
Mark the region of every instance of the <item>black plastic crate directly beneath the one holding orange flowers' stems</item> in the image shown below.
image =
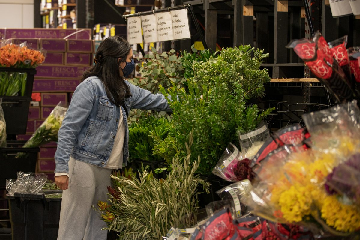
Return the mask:
[[[25,134],[31,97],[0,96],[0,98],[3,98],[1,106],[4,110],[6,134]]]

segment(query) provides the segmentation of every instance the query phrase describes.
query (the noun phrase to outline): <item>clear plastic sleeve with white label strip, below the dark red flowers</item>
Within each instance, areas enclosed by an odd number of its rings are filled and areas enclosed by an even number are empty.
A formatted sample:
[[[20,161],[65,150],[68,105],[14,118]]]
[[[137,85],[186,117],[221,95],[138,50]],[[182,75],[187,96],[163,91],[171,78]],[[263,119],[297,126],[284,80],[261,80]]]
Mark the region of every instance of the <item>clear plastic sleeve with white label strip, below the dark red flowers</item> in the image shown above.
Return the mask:
[[[244,213],[244,210],[242,209],[242,204],[240,203],[240,197],[243,194],[249,193],[251,189],[252,185],[250,181],[246,179],[226,186],[217,191],[216,193],[220,196],[222,200],[230,200],[231,208],[233,209],[233,216],[235,219],[237,219],[240,218]]]

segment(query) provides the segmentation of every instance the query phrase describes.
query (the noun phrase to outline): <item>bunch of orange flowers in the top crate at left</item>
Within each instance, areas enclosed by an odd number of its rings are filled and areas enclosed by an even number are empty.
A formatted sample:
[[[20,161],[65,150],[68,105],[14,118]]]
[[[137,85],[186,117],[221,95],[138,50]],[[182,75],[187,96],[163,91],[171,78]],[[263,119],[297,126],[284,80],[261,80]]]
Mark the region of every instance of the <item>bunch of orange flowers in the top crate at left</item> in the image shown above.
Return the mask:
[[[35,68],[45,60],[40,51],[20,47],[14,44],[6,44],[0,48],[0,66],[15,68]]]

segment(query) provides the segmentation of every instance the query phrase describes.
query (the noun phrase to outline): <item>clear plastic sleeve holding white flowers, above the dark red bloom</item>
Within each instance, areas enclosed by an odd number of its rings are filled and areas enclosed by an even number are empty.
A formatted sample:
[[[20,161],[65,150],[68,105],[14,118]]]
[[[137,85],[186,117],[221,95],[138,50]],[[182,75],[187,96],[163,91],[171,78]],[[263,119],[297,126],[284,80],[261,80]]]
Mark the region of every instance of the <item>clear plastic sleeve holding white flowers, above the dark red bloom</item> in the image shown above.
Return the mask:
[[[252,159],[269,136],[266,124],[254,131],[239,134],[240,147],[244,157]]]

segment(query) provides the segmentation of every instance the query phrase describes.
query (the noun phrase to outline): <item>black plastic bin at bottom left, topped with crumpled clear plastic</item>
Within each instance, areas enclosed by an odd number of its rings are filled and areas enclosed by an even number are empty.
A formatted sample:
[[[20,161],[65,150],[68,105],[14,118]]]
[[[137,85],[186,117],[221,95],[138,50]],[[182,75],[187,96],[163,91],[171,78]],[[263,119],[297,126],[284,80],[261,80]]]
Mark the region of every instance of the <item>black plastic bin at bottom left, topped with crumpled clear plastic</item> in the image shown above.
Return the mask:
[[[61,198],[45,198],[62,190],[37,194],[15,193],[9,199],[13,240],[56,240],[59,231]]]

